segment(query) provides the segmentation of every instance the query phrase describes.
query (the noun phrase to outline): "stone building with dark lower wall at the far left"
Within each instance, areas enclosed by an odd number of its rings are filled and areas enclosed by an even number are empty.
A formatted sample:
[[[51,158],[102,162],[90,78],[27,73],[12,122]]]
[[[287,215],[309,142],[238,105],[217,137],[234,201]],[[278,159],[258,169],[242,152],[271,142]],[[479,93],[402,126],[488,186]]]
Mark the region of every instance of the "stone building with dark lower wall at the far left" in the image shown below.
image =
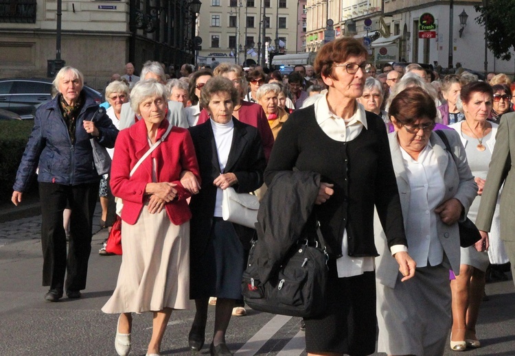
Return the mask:
[[[195,19],[185,0],[62,0],[60,58],[103,88],[146,60],[193,62]],[[56,0],[0,0],[0,77],[45,77],[56,58]]]

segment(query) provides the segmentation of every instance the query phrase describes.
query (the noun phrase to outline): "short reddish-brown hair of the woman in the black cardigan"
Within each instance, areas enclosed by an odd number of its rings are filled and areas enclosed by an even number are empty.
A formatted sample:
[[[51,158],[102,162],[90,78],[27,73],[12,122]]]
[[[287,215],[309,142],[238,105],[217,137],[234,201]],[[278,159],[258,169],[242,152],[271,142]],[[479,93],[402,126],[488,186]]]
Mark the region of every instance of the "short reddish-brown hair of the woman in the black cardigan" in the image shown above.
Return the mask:
[[[352,37],[338,38],[322,46],[317,59],[314,60],[314,71],[329,77],[332,74],[332,64],[345,62],[349,57],[360,56],[368,58],[368,51],[360,41]]]

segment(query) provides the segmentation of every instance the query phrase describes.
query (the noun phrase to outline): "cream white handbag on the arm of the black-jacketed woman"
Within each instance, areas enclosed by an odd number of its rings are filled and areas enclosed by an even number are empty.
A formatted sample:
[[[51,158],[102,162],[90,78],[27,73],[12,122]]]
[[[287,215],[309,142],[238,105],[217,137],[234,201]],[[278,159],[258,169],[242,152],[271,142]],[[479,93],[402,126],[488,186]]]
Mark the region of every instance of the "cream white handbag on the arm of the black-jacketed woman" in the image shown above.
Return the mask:
[[[234,188],[224,189],[222,196],[222,218],[226,221],[255,228],[258,222],[260,201],[251,193],[236,193]]]

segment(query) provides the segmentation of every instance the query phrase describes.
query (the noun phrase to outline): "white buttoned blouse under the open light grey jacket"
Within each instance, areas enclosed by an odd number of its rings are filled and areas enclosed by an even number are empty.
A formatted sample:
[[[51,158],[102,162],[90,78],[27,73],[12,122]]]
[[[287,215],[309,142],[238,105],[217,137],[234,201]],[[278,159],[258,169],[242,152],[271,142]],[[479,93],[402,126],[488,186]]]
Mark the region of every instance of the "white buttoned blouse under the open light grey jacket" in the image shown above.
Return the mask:
[[[400,147],[409,181],[410,197],[406,237],[409,255],[417,267],[439,265],[444,259],[444,248],[438,239],[435,209],[442,202],[445,182],[431,143],[420,152],[417,161]]]

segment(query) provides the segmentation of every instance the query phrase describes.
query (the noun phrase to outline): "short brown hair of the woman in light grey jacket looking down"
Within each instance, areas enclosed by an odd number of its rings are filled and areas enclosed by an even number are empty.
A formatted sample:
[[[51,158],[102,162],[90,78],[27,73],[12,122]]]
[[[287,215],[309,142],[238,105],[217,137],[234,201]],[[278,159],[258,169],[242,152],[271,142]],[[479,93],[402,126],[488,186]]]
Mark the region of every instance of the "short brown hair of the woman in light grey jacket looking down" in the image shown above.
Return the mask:
[[[404,89],[393,98],[388,110],[388,115],[395,117],[397,127],[404,125],[413,125],[415,121],[426,117],[431,121],[436,120],[435,101],[420,88],[420,86],[411,86]]]

